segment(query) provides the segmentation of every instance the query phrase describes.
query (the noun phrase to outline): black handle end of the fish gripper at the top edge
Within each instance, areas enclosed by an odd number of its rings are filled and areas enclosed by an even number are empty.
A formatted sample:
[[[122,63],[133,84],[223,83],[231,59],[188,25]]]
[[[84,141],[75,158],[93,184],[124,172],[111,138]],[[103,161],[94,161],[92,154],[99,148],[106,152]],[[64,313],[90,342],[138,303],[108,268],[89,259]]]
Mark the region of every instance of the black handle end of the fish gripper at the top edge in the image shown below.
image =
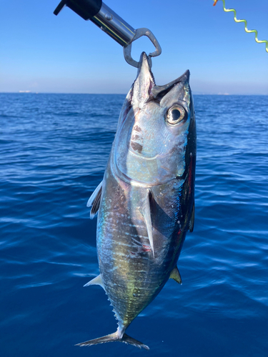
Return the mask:
[[[68,6],[71,10],[76,12],[84,20],[89,20],[101,9],[102,0],[61,0],[54,11],[54,14],[59,14],[59,11]]]

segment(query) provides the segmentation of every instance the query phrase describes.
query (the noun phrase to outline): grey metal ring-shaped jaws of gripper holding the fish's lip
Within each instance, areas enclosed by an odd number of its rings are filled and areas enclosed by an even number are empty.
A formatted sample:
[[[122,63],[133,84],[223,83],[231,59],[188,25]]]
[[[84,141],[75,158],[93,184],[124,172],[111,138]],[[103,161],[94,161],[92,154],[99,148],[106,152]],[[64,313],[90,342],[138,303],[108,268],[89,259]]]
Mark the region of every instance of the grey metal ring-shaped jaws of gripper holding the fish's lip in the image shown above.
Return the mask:
[[[134,66],[136,68],[139,67],[139,62],[132,59],[132,56],[131,56],[131,47],[132,46],[131,45],[132,45],[133,41],[139,39],[142,36],[149,37],[149,39],[152,41],[152,44],[154,45],[154,47],[156,49],[154,52],[152,52],[152,54],[149,54],[149,66],[152,67],[151,57],[159,56],[159,54],[162,53],[162,49],[161,49],[161,46],[159,45],[159,42],[157,41],[154,34],[152,33],[152,31],[150,31],[149,29],[146,29],[145,27],[142,27],[142,29],[135,30],[135,35],[134,35],[133,39],[131,39],[131,42],[126,47],[124,47],[124,59],[131,66]]]

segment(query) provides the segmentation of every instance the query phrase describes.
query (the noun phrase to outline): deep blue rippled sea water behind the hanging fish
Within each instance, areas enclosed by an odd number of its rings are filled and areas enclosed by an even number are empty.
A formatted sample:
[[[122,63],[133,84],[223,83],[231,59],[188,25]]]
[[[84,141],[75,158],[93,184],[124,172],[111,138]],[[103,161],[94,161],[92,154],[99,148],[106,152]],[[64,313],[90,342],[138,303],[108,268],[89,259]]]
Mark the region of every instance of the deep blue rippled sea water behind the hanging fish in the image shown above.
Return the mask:
[[[123,95],[0,94],[0,356],[268,356],[268,96],[194,96],[196,221],[123,343],[99,286],[96,219]]]

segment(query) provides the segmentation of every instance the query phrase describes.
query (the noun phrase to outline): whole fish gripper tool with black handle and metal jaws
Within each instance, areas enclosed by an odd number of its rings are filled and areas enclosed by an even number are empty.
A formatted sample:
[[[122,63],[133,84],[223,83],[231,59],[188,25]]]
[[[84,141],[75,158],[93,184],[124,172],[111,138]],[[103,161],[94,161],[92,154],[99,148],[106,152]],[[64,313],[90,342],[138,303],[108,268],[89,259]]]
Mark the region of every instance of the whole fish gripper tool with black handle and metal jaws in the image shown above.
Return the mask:
[[[155,51],[149,54],[149,65],[152,67],[151,57],[156,57],[161,54],[162,49],[159,42],[155,38],[152,31],[149,29],[137,29],[126,23],[120,16],[112,11],[102,0],[61,0],[56,7],[54,14],[59,14],[59,11],[68,6],[76,12],[84,20],[92,21],[101,30],[106,32],[118,44],[124,47],[124,59],[131,66],[139,66],[139,62],[134,61],[131,56],[131,44],[142,36],[147,36],[154,44]]]

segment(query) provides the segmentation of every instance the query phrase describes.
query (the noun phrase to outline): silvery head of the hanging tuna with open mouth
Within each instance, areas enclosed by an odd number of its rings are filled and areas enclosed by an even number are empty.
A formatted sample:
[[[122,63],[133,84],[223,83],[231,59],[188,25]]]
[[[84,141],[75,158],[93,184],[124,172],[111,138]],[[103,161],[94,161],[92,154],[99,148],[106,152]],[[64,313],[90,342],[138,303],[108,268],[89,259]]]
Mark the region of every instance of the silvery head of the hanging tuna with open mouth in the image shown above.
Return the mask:
[[[189,71],[157,86],[143,53],[137,79],[119,117],[113,158],[116,170],[132,184],[142,186],[183,176],[191,140],[195,154],[194,123]]]

